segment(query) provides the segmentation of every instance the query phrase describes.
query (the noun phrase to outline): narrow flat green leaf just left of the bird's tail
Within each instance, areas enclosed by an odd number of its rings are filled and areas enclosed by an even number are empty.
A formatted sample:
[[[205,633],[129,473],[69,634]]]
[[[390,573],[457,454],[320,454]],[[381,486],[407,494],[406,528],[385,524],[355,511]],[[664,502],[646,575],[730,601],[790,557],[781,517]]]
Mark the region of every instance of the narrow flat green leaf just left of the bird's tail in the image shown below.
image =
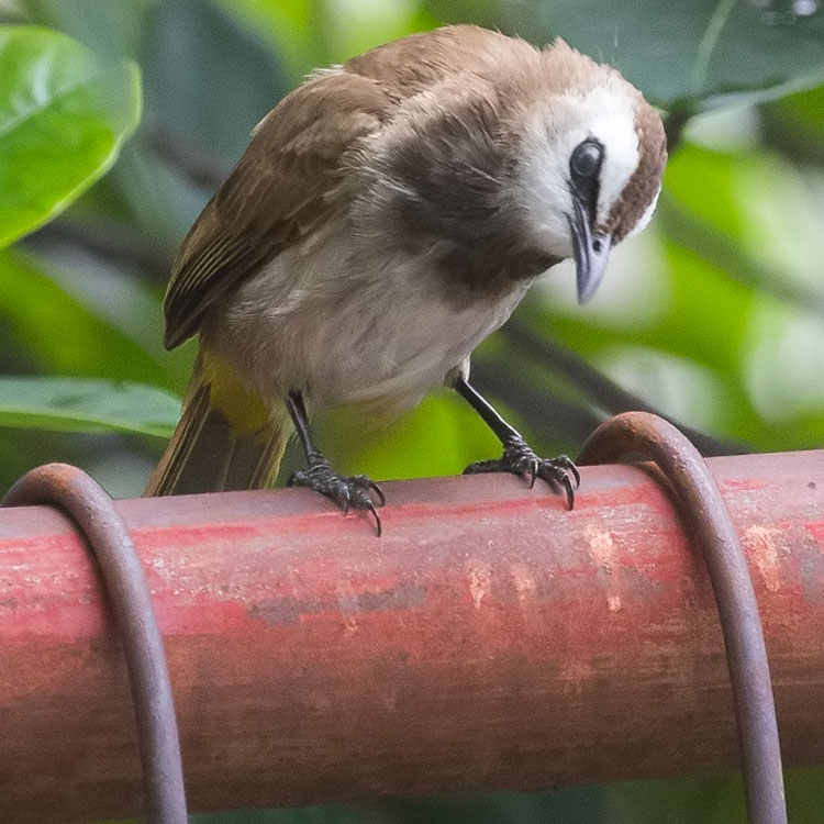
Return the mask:
[[[0,426],[169,437],[180,399],[157,387],[88,378],[0,378]]]

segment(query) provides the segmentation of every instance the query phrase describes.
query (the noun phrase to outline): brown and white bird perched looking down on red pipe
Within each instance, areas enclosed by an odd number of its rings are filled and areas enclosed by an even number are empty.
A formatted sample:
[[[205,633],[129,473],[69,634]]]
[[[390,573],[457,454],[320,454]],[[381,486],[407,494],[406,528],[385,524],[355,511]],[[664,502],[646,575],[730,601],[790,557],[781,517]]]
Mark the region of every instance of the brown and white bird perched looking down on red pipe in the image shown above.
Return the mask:
[[[172,264],[164,343],[199,352],[146,494],[289,482],[381,521],[370,478],[324,457],[310,412],[380,417],[445,385],[502,444],[465,471],[543,479],[543,458],[469,380],[472,350],[531,283],[576,265],[581,303],[610,249],[652,218],[667,159],[658,111],[617,69],[475,25],[412,34],[319,69],[254,129]]]

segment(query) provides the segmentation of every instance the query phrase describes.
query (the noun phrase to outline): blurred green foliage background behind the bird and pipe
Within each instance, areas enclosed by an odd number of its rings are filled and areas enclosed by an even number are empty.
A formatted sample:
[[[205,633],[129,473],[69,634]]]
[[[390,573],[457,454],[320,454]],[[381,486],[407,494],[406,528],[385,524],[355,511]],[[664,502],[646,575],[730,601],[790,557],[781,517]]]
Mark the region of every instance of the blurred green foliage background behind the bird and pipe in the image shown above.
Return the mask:
[[[478,352],[481,389],[548,454],[642,404],[703,432],[705,452],[822,445],[817,0],[2,0],[0,245],[30,234],[0,252],[0,489],[60,459],[140,493],[193,358],[162,347],[168,267],[216,181],[304,73],[442,22],[564,36],[667,110],[677,145],[656,219],[595,300],[580,309],[559,267]],[[376,478],[497,450],[445,394],[366,434],[331,417],[321,439]],[[791,771],[793,821],[820,820],[823,787]],[[736,782],[692,779],[196,820],[726,823],[743,810]]]

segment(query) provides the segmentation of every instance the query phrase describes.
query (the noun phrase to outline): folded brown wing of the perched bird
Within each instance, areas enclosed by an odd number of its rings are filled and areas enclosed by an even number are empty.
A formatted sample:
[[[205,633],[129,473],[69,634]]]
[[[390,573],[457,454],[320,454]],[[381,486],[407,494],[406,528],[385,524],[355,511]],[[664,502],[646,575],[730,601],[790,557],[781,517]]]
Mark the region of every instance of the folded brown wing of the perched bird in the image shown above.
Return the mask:
[[[342,155],[394,105],[375,80],[331,70],[266,115],[175,259],[164,303],[167,348],[191,337],[208,307],[329,215]]]

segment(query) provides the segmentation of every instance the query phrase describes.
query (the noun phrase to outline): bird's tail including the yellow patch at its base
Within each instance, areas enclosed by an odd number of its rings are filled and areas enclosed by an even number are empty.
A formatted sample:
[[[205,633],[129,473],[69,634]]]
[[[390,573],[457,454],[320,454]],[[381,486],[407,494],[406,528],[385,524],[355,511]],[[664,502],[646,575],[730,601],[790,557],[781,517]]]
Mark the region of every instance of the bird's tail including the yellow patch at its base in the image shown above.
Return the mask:
[[[292,433],[220,358],[201,354],[175,434],[144,495],[261,489],[275,481]]]

